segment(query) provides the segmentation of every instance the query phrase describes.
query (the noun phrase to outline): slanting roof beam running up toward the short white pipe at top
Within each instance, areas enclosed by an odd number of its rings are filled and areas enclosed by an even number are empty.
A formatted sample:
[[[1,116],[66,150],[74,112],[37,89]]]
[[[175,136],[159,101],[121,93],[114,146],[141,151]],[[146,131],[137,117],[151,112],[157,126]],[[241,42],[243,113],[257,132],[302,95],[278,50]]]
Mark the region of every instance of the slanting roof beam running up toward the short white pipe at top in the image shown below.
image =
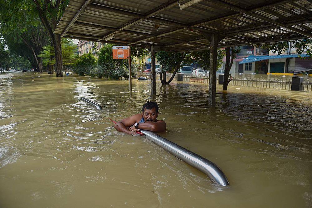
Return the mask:
[[[168,1],[168,2],[166,2],[166,3],[164,3],[164,4],[162,4],[162,5],[160,5],[159,7],[156,7],[156,8],[154,8],[154,9],[150,10],[149,12],[147,12],[147,13],[144,15],[144,18],[152,17],[153,15],[155,15],[155,14],[157,14],[157,13],[159,13],[159,12],[165,10],[165,9],[171,8],[171,7],[173,7],[173,6],[177,5],[177,4],[178,4],[178,0],[174,0],[174,1],[173,1],[173,0],[170,0],[170,1]],[[136,19],[133,19],[133,20],[131,20],[131,21],[125,23],[124,25],[121,25],[121,26],[118,28],[118,30],[119,30],[119,31],[122,31],[123,29],[125,29],[125,28],[127,28],[127,27],[130,27],[130,26],[132,26],[132,25],[134,25],[134,24],[136,24],[136,23],[138,23],[138,22],[141,22],[142,20],[144,20],[144,19],[143,19],[143,18],[136,18]],[[115,34],[115,33],[117,33],[117,32],[118,32],[118,31],[106,33],[105,35],[103,35],[103,36],[102,36],[100,39],[98,39],[97,41],[100,41],[100,40],[102,40],[102,39],[105,39],[106,37],[111,36],[111,35],[113,35],[113,34]]]

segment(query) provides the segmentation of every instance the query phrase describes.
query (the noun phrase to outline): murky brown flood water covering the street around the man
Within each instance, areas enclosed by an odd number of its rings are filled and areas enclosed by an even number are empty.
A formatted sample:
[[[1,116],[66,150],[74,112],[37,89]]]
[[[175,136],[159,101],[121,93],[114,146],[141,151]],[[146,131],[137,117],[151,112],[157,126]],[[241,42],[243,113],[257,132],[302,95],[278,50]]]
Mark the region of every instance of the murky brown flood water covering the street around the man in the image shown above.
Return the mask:
[[[40,76],[40,77],[39,77]],[[139,113],[150,82],[0,74],[0,207],[312,207],[312,93],[157,83],[160,135],[216,163],[218,186],[109,119]],[[102,105],[96,110],[79,100]]]

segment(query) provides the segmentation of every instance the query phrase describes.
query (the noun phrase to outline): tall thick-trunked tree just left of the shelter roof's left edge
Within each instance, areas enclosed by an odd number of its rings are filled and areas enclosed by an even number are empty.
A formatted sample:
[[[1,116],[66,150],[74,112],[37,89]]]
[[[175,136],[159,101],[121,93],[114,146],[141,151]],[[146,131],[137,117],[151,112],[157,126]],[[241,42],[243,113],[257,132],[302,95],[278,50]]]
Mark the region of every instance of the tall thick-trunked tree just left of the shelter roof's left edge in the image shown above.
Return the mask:
[[[63,76],[63,59],[62,59],[62,47],[61,47],[61,35],[54,34],[53,30],[56,28],[58,21],[61,19],[68,0],[33,0],[37,8],[38,15],[46,31],[51,39],[51,44],[55,51],[55,70],[56,76]]]

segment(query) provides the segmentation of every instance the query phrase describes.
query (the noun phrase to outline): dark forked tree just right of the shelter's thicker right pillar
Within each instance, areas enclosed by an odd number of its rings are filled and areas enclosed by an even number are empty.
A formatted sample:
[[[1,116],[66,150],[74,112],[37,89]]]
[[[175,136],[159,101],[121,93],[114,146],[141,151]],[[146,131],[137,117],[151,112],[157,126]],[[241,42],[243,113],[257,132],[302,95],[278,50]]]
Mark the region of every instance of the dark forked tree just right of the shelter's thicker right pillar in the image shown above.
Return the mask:
[[[227,90],[227,85],[232,81],[232,78],[229,79],[230,76],[230,70],[233,65],[233,61],[236,57],[236,54],[241,51],[240,47],[237,47],[236,49],[234,47],[225,48],[225,54],[226,54],[226,61],[225,61],[225,69],[224,69],[224,81],[223,81],[223,90]],[[231,58],[231,61],[230,61]]]

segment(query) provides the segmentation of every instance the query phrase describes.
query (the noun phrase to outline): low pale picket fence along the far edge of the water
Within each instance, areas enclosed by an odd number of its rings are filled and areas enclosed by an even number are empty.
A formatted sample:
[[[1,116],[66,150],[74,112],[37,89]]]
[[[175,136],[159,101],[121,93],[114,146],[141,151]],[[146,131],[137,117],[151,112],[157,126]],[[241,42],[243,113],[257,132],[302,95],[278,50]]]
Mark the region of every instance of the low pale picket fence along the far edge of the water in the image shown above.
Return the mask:
[[[137,74],[136,77],[144,76],[148,79],[151,78],[150,74]],[[167,80],[169,80],[171,74],[167,74]],[[156,80],[160,80],[159,74],[156,74]],[[178,76],[174,76],[173,80],[177,81]],[[217,83],[219,78],[217,77]],[[209,76],[183,76],[184,82],[200,82],[204,84],[209,83]],[[291,79],[270,79],[270,78],[246,78],[246,77],[234,77],[229,85],[245,86],[245,87],[258,87],[258,88],[270,88],[270,89],[291,89]],[[302,83],[303,91],[312,91],[312,81],[304,80]]]

